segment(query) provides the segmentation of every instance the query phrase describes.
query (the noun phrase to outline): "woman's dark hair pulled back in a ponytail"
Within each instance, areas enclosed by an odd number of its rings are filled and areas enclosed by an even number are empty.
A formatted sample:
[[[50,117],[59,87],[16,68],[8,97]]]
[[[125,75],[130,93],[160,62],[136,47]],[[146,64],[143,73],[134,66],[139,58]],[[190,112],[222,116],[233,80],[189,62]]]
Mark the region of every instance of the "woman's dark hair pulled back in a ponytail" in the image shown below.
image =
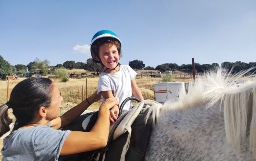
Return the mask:
[[[52,98],[52,81],[48,78],[27,78],[12,89],[8,105],[0,106],[0,137],[10,130],[12,120],[8,117],[8,107],[12,108],[16,118],[14,130],[30,123],[35,111],[40,107],[49,107]]]

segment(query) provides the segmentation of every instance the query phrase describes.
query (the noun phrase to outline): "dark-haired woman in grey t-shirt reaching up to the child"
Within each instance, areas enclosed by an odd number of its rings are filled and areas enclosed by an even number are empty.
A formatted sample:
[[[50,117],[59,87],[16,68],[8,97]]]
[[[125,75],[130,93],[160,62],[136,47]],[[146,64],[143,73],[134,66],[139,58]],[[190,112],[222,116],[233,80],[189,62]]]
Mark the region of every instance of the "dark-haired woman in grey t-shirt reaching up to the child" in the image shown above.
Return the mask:
[[[98,120],[90,132],[61,131],[100,96],[95,92],[82,103],[60,116],[63,97],[48,78],[27,78],[17,84],[10,100],[0,106],[0,137],[7,133],[12,108],[16,117],[14,130],[3,141],[4,160],[57,161],[59,156],[86,152],[106,146],[109,133],[109,110],[118,105],[116,98],[99,107]]]

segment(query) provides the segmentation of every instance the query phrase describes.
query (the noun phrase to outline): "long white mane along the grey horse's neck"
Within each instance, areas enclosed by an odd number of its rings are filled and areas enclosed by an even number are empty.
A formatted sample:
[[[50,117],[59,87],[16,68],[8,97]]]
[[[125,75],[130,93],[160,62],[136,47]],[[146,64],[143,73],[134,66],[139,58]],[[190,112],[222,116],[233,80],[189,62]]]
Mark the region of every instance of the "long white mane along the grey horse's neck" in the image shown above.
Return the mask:
[[[196,78],[188,94],[179,93],[178,102],[166,102],[150,108],[146,120],[152,118],[154,125],[155,119],[158,120],[162,114],[172,110],[184,110],[203,104],[210,108],[221,101],[227,142],[240,150],[249,128],[250,149],[256,153],[256,78],[245,76],[250,70],[234,76],[222,68],[205,73]],[[243,83],[237,84],[237,81]]]

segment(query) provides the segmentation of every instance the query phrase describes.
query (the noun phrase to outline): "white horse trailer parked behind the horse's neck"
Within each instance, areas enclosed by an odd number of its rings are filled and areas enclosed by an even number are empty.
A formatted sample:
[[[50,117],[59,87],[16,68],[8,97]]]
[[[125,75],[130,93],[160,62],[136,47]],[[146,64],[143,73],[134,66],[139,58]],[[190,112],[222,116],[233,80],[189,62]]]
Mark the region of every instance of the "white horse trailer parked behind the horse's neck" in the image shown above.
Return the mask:
[[[154,84],[155,101],[159,103],[164,103],[165,101],[178,101],[179,92],[185,92],[185,85],[183,82]]]

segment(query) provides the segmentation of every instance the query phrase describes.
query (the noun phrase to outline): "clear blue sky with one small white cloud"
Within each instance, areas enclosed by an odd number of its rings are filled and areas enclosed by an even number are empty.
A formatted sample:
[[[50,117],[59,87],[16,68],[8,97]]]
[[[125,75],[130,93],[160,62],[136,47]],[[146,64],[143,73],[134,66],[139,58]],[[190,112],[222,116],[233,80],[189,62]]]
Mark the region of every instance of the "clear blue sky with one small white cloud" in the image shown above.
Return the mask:
[[[0,55],[11,65],[86,62],[99,30],[121,39],[121,64],[256,61],[255,0],[0,0]]]

